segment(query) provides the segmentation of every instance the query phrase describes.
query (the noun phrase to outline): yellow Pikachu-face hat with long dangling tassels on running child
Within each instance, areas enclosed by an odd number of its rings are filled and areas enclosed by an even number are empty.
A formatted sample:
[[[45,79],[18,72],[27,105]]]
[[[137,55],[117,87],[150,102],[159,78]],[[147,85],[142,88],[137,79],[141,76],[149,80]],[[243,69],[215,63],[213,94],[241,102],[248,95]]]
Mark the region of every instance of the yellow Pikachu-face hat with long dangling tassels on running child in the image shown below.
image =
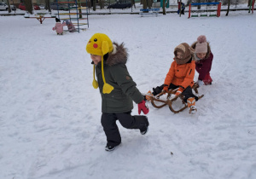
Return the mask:
[[[110,38],[103,33],[96,33],[94,34],[89,42],[86,45],[86,51],[92,55],[101,55],[102,56],[102,79],[103,79],[103,94],[109,94],[113,90],[113,86],[106,83],[105,76],[104,76],[104,69],[103,69],[103,55],[106,55],[113,51],[113,43],[111,42]],[[95,79],[95,66],[93,66],[93,82],[92,86],[97,89],[99,84]]]

